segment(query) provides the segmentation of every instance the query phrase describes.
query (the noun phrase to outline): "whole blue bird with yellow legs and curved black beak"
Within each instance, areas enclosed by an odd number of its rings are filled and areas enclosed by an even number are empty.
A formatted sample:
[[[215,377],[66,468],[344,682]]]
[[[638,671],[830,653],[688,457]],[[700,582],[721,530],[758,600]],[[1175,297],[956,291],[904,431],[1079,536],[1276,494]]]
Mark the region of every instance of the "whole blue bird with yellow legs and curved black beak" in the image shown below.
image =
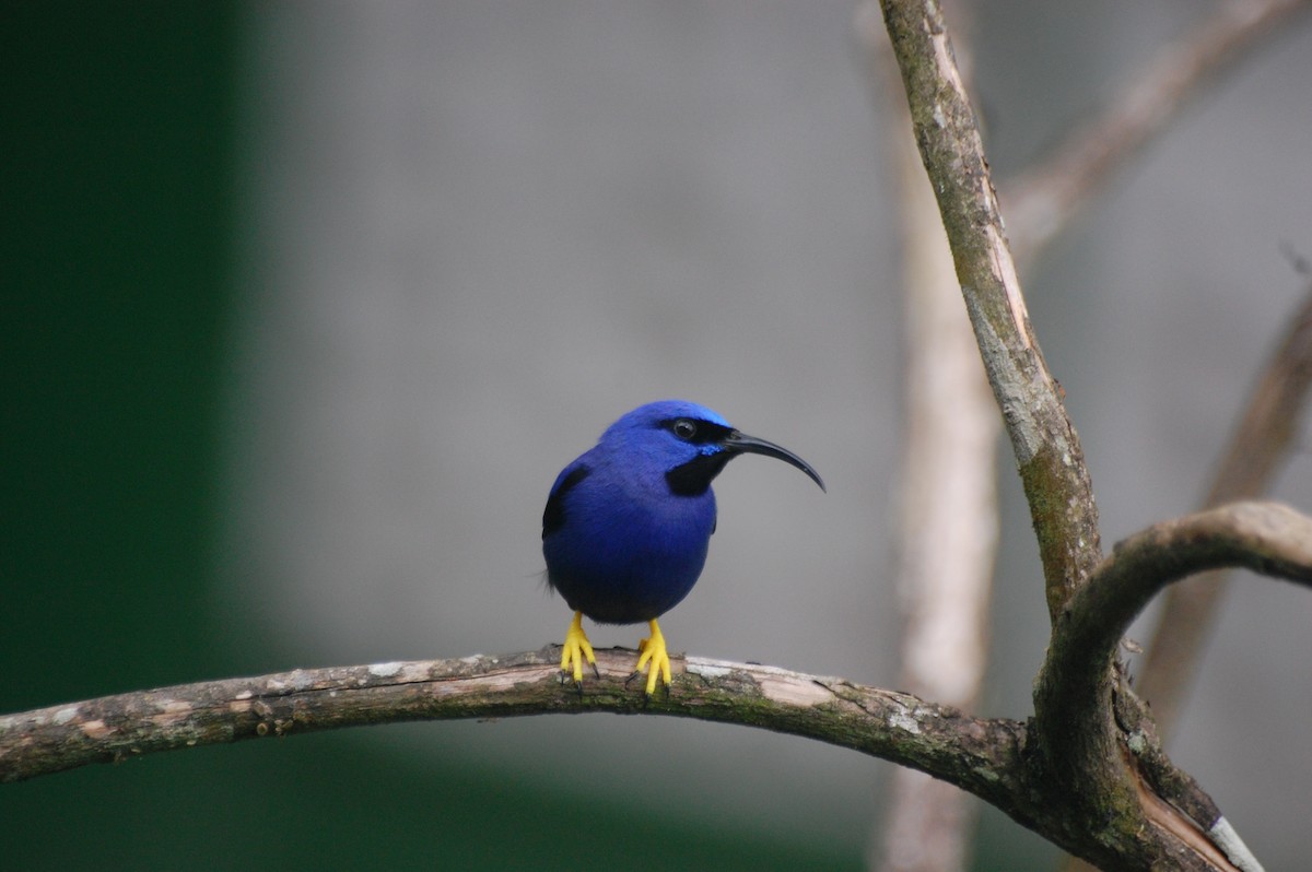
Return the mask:
[[[611,424],[597,445],[556,476],[542,513],[547,584],[573,610],[560,656],[563,675],[583,686],[583,662],[597,673],[586,615],[602,624],[647,622],[634,675],[644,669],[669,688],[669,652],[656,619],[697,584],[715,532],[711,480],[740,454],[795,466],[824,490],[806,460],[735,430],[710,409],[684,400],[639,406]]]

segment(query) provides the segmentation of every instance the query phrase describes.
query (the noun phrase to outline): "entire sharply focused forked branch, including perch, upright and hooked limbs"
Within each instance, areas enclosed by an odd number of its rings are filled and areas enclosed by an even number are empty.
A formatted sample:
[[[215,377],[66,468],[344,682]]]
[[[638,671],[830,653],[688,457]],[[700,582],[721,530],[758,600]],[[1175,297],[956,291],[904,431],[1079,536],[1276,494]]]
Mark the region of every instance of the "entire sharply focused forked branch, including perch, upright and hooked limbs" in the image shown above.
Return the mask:
[[[1029,724],[782,669],[673,660],[668,698],[598,652],[585,694],[554,649],[185,684],[0,717],[0,780],[266,736],[407,720],[660,713],[806,736],[955,784],[1090,862],[1118,869],[1258,868],[1215,804],[1161,753],[1117,667],[1134,615],[1191,572],[1240,565],[1312,585],[1312,519],[1239,504],[1131,538],[1102,560],[1078,439],[1034,340],[974,114],[934,3],[883,0],[921,159],[976,342],[1031,506],[1054,624]]]

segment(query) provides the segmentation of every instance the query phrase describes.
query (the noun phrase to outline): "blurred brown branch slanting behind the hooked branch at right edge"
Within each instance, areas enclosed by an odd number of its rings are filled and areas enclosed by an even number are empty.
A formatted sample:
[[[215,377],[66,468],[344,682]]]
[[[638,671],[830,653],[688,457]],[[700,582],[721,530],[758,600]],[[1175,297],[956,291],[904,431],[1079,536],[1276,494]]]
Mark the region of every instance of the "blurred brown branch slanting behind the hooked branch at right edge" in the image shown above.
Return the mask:
[[[1253,391],[1204,506],[1266,493],[1288,456],[1309,388],[1312,288]],[[1139,695],[1152,703],[1162,737],[1169,736],[1179,717],[1199,652],[1225,591],[1227,577],[1225,570],[1210,572],[1189,585],[1177,585],[1166,591],[1138,683]]]

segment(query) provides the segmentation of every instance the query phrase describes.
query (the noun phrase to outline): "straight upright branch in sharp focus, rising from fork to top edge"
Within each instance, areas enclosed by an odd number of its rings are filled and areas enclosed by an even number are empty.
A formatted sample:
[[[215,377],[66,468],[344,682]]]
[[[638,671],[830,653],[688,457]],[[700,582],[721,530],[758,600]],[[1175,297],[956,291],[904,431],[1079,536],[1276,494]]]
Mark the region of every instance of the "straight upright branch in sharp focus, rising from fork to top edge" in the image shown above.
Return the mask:
[[[942,10],[929,0],[880,5],[956,279],[1012,438],[1055,619],[1101,557],[1098,510],[1080,438],[1030,328]]]

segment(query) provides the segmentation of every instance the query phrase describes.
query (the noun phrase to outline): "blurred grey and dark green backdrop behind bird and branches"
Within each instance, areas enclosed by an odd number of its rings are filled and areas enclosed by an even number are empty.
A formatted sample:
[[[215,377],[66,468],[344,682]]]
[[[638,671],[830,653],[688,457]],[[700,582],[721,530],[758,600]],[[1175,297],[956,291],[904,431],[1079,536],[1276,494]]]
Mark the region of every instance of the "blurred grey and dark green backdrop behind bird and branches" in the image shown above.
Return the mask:
[[[1207,9],[981,1],[998,186]],[[887,686],[899,215],[849,3],[5,4],[0,711],[559,641],[547,489],[705,403],[825,476],[718,481],[673,650]],[[1202,497],[1312,256],[1312,28],[1220,81],[1026,281],[1105,544]],[[884,121],[884,118],[890,121]],[[1304,434],[1307,430],[1304,429]],[[1312,509],[1305,450],[1275,496]],[[1047,616],[1004,517],[981,713]],[[1174,759],[1305,859],[1312,598],[1241,580]],[[640,628],[589,629],[634,645]],[[593,715],[302,736],[0,788],[12,869],[855,869],[890,766]],[[1055,848],[985,810],[976,869]]]

